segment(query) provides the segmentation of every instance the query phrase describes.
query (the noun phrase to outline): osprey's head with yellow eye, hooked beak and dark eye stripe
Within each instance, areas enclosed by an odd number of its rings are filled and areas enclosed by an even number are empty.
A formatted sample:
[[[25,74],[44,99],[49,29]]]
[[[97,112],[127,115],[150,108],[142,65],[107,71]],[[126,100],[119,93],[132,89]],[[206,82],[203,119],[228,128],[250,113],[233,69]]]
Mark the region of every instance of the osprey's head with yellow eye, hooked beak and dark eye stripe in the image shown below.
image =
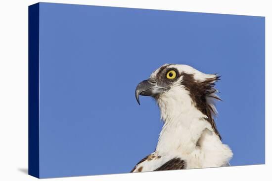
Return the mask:
[[[161,97],[175,99],[185,91],[188,91],[192,101],[197,101],[195,100],[197,98],[206,99],[209,96],[220,100],[215,94],[218,91],[214,88],[214,83],[219,78],[220,76],[217,74],[205,74],[187,65],[165,64],[152,72],[147,80],[143,80],[137,85],[135,96],[138,104],[140,104],[139,95],[151,96],[156,100]],[[179,92],[173,94],[174,89]]]

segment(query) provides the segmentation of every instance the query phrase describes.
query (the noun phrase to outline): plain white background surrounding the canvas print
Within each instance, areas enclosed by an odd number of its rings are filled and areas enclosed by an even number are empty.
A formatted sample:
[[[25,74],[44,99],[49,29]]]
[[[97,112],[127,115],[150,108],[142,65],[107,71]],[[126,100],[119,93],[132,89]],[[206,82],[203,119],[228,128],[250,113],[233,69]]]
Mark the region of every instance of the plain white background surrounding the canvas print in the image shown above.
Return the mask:
[[[58,181],[268,180],[271,168],[270,0],[46,0],[90,5],[266,16],[266,165],[48,179]],[[0,181],[37,180],[28,168],[28,5],[36,0],[0,2]],[[231,71],[231,70],[230,70]],[[258,73],[258,72],[256,72]],[[249,77],[250,78],[250,77]],[[269,82],[270,81],[270,82]],[[246,91],[246,90],[240,90]],[[253,95],[258,96],[258,95]],[[246,104],[246,103],[245,103]],[[249,112],[250,113],[250,112]],[[238,120],[237,120],[238,121]],[[258,121],[258,120],[256,120]],[[245,123],[246,124],[246,123]],[[233,128],[235,129],[235,128]],[[113,155],[114,156],[114,155]],[[106,163],[105,163],[106,164]],[[116,164],[118,165],[118,163]]]

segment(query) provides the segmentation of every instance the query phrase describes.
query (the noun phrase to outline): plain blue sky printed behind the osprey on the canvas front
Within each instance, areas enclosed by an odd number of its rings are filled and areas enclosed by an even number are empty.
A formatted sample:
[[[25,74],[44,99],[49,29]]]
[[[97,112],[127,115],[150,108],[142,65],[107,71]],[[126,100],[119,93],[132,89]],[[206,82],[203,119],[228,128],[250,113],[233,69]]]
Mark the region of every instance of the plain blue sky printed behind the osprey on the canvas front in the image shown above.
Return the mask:
[[[40,5],[40,176],[127,173],[162,127],[138,82],[165,63],[219,73],[233,166],[265,163],[265,18]]]

